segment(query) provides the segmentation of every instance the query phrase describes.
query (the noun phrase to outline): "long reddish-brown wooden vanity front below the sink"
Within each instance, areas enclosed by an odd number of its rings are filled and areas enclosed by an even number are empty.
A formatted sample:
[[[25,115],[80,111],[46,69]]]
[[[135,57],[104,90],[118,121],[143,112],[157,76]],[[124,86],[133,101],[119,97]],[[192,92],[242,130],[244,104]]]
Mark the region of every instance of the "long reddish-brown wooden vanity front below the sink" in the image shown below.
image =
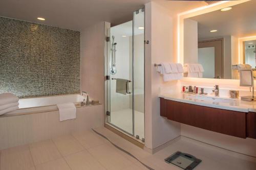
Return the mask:
[[[187,104],[163,98],[160,99],[160,103],[160,115],[170,120],[209,131],[246,138],[246,113],[244,112]],[[254,117],[255,115],[251,116]],[[255,135],[255,133],[250,134]]]

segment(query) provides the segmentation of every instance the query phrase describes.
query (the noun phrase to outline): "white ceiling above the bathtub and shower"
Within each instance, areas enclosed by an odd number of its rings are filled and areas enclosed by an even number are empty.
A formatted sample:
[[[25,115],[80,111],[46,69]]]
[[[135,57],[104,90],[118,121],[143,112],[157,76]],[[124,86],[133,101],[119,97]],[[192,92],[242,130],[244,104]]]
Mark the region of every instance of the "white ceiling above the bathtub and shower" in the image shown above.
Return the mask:
[[[151,0],[1,0],[0,16],[81,31],[98,21],[118,25]],[[36,19],[46,18],[45,21]]]

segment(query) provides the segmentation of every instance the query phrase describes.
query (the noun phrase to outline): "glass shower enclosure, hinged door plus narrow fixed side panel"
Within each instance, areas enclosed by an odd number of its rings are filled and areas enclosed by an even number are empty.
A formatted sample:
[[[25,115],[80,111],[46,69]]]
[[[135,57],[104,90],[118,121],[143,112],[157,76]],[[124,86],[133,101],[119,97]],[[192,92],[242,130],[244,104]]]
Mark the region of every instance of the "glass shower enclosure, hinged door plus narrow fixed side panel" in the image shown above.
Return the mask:
[[[106,123],[144,141],[144,9],[108,30]]]

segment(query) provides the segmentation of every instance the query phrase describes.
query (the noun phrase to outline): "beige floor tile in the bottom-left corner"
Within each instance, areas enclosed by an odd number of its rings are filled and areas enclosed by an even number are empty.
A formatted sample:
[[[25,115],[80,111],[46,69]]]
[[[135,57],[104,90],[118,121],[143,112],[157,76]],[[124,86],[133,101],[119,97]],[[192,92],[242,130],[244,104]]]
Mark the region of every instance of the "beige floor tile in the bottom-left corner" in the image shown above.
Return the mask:
[[[33,169],[34,163],[28,145],[1,151],[1,170]]]

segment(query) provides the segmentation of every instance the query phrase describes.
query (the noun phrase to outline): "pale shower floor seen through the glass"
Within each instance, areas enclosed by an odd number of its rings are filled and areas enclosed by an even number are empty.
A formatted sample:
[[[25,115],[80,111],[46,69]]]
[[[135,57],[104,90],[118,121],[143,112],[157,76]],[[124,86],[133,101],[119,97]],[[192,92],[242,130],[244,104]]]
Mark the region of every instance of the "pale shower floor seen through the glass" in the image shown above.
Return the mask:
[[[111,112],[111,124],[120,129],[133,133],[133,110],[124,109]],[[144,113],[134,111],[134,136],[139,135],[144,138]]]

